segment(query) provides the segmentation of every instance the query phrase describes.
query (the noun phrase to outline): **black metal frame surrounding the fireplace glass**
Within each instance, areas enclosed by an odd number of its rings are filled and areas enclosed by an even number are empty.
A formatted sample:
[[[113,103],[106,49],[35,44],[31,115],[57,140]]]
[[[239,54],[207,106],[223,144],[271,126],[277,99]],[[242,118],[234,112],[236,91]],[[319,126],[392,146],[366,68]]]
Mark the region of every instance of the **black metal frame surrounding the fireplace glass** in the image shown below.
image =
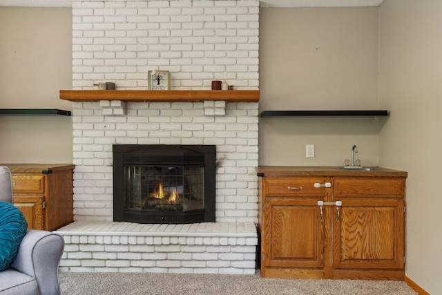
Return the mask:
[[[124,207],[125,166],[202,166],[204,208],[163,211]],[[136,223],[215,222],[214,145],[114,144],[113,145],[113,220]]]

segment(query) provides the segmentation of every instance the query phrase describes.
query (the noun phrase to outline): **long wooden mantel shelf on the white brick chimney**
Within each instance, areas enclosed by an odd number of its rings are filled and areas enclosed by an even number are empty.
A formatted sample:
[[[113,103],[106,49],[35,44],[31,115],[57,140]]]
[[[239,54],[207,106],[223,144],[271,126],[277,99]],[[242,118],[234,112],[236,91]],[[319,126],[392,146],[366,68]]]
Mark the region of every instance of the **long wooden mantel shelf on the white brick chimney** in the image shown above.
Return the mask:
[[[125,102],[258,102],[259,90],[61,90],[60,99],[71,102],[98,102],[122,100]]]

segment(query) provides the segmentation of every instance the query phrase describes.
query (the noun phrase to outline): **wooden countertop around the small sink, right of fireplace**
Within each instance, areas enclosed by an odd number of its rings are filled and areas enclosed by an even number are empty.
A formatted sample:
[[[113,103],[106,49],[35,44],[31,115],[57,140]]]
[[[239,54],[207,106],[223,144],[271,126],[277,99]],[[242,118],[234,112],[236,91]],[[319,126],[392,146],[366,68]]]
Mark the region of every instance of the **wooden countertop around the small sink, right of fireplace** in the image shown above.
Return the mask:
[[[407,177],[407,172],[387,169],[382,167],[372,168],[371,171],[339,170],[332,166],[258,166],[258,176],[284,177],[284,176],[390,176]]]

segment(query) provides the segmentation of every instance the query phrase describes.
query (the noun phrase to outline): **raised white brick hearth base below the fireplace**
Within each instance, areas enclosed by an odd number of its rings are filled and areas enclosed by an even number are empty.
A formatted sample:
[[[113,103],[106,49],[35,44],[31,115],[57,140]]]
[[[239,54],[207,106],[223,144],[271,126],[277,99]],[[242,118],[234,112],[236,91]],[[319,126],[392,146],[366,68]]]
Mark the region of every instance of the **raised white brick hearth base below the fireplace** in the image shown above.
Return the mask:
[[[254,274],[256,268],[253,222],[76,221],[55,233],[66,242],[61,272]]]

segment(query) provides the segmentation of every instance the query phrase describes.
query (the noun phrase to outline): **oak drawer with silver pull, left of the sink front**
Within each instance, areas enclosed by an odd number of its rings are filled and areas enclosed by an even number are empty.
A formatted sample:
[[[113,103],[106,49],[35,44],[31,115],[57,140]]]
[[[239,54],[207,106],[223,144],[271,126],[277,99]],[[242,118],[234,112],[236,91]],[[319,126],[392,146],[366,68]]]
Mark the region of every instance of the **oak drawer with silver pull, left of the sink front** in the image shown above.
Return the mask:
[[[322,186],[315,187],[315,184]],[[322,197],[325,194],[325,178],[317,177],[289,177],[289,178],[265,178],[265,196],[300,196]]]

